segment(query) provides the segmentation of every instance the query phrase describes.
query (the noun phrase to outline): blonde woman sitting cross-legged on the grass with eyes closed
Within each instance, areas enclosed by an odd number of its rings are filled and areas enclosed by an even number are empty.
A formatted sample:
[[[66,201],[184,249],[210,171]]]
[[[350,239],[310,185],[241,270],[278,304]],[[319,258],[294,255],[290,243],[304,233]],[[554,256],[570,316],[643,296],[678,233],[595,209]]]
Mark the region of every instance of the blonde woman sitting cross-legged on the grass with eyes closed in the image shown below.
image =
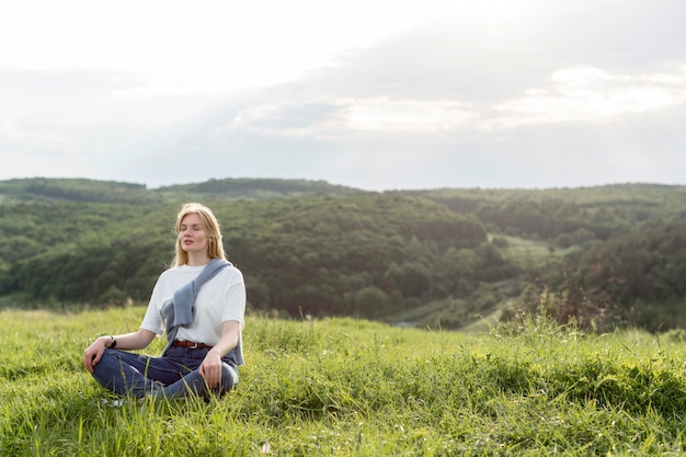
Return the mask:
[[[238,384],[243,276],[226,260],[219,224],[208,207],[183,205],[175,229],[174,266],[158,278],[140,329],[100,336],[83,353],[85,369],[115,393],[206,397]],[[147,347],[164,332],[162,356],[128,352]]]

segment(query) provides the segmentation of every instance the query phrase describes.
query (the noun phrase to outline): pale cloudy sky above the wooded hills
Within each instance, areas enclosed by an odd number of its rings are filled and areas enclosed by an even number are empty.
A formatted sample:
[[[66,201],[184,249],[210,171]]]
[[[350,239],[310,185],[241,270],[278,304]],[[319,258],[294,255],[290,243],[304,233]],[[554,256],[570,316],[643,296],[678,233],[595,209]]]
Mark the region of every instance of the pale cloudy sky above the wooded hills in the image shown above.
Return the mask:
[[[0,180],[686,184],[683,0],[0,0]]]

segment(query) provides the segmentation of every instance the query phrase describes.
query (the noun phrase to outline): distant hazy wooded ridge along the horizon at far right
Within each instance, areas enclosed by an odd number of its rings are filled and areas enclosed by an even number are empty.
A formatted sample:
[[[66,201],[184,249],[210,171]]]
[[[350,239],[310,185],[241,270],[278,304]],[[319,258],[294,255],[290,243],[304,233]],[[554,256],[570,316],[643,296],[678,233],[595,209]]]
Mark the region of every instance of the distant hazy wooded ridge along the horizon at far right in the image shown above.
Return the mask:
[[[472,214],[511,236],[554,240],[568,233],[607,240],[638,226],[686,219],[686,186],[615,184],[549,190],[442,188],[398,191]]]

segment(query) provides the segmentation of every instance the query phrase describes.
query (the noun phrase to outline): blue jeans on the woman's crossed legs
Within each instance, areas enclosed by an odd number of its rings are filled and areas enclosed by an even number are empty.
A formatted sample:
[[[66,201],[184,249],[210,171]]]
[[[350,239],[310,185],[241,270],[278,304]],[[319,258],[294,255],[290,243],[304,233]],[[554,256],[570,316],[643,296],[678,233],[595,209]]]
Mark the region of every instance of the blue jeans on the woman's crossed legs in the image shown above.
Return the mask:
[[[93,377],[106,389],[118,395],[142,398],[146,395],[179,398],[188,395],[207,397],[225,393],[239,381],[232,361],[222,359],[221,385],[209,389],[198,372],[207,349],[171,347],[164,357],[105,350],[93,367]],[[229,363],[227,363],[229,362]]]

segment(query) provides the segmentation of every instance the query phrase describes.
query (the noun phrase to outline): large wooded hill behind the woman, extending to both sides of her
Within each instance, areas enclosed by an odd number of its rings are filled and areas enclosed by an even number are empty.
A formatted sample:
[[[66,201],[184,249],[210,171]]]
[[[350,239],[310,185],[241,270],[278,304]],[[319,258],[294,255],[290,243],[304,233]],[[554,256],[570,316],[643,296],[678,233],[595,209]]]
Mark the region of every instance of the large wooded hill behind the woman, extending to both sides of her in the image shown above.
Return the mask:
[[[385,300],[369,300],[369,288],[404,298],[431,296],[434,285],[439,294],[456,292],[451,278],[436,269],[444,252],[478,249],[485,241],[472,218],[399,196],[207,203],[222,224],[230,260],[248,277],[252,305],[291,316],[305,310],[382,317],[370,306]],[[145,301],[172,259],[178,207],[171,204],[53,203],[45,209],[24,204],[0,210],[0,224],[35,220],[16,232],[21,240],[53,237],[46,245],[26,243],[23,250],[13,236],[7,238],[4,294],[62,302]],[[392,281],[395,265],[403,272],[400,282]],[[476,267],[468,281],[489,267]]]

